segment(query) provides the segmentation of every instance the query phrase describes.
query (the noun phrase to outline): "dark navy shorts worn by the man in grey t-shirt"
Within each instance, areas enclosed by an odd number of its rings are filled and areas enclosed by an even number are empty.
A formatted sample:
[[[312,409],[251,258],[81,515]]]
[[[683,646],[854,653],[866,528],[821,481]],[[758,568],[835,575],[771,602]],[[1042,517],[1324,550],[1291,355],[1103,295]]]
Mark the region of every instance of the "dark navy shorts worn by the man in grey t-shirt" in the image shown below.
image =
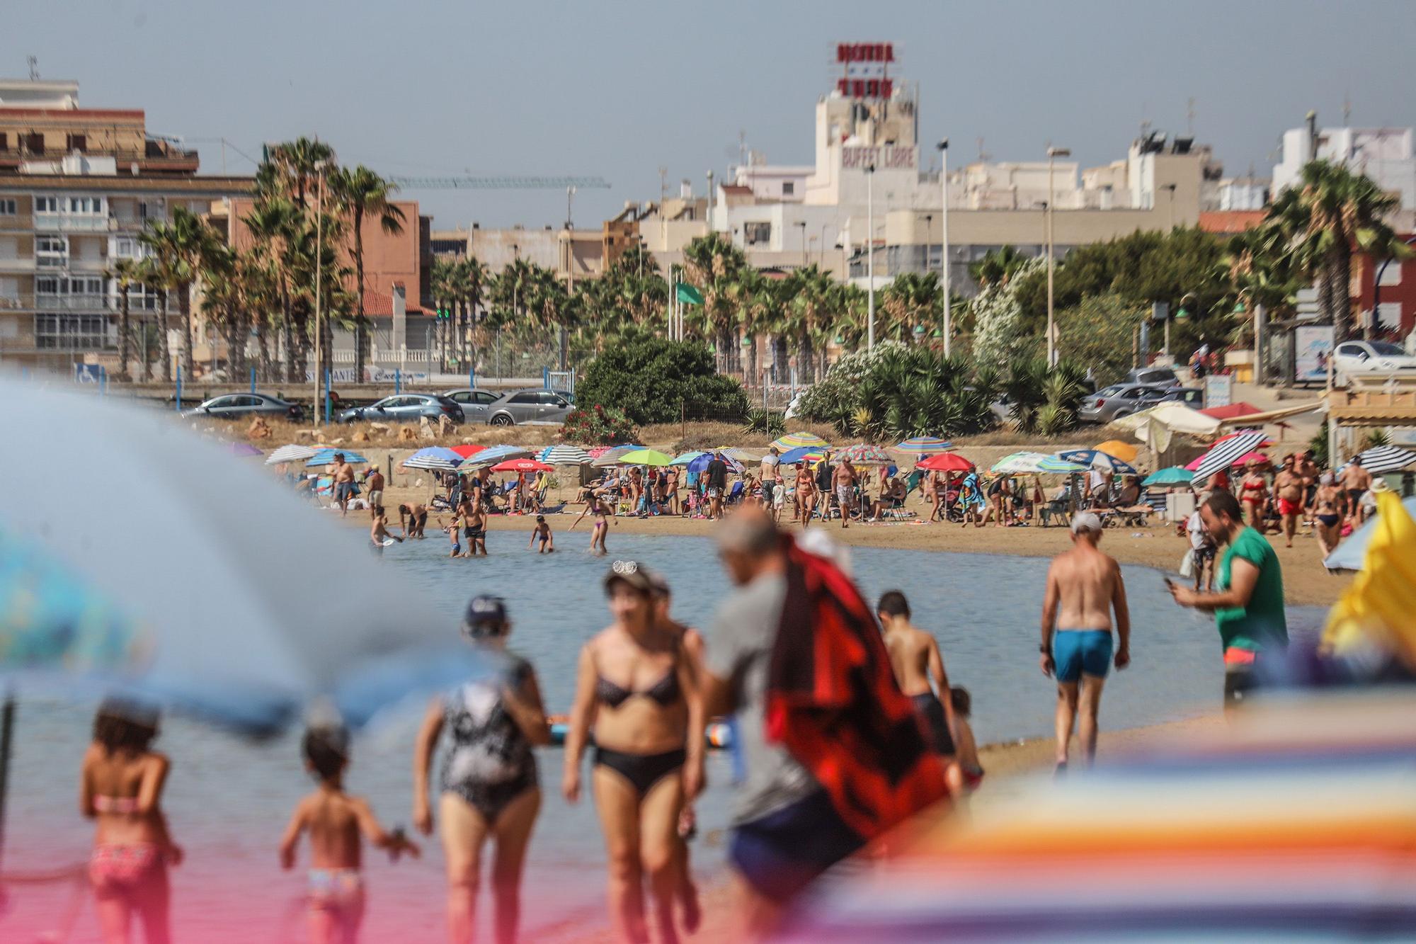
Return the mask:
[[[738,826],[728,859],[760,894],[787,901],[864,845],[835,812],[826,791],[817,790]]]

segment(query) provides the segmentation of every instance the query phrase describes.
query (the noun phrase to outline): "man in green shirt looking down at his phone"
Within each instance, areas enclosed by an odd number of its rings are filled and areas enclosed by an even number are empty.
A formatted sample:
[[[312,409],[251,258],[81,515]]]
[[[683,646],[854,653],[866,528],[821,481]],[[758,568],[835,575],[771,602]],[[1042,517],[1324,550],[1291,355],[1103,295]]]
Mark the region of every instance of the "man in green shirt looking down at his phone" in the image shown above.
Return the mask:
[[[1199,592],[1167,581],[1181,607],[1215,614],[1225,646],[1225,707],[1243,702],[1255,685],[1259,659],[1281,653],[1289,645],[1283,614],[1283,571],[1267,539],[1243,523],[1239,500],[1215,489],[1199,507],[1205,530],[1219,547],[1219,590]]]

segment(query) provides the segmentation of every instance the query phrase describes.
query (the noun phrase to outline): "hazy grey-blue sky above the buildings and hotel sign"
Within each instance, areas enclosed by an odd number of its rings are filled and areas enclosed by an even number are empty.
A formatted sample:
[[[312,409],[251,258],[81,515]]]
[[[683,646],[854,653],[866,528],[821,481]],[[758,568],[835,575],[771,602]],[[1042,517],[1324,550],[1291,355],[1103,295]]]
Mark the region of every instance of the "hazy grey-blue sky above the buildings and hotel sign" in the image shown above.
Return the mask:
[[[385,174],[602,174],[582,225],[657,198],[658,167],[702,187],[738,133],[810,163],[813,103],[837,41],[895,43],[922,85],[920,133],[952,163],[1120,157],[1144,119],[1269,173],[1283,129],[1416,125],[1410,0],[44,0],[6,3],[0,74],[82,84],[86,106],[146,108],[153,132],[262,142],[319,135]],[[200,143],[205,172],[219,145]],[[927,160],[927,157],[926,157]],[[234,173],[252,164],[227,152]],[[565,214],[555,193],[409,191],[436,227]]]

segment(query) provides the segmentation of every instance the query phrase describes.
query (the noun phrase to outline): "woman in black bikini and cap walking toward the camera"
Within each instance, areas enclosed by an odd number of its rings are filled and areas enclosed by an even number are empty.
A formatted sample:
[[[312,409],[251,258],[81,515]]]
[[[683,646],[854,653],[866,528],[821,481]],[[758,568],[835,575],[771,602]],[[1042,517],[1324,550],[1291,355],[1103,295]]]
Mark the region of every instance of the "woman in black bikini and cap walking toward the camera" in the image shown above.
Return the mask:
[[[634,561],[605,577],[615,622],[581,649],[562,790],[581,795],[581,754],[595,726],[590,782],[609,856],[616,940],[649,941],[647,877],[660,940],[678,940],[678,812],[702,790],[704,707],[683,634],[654,618],[653,583]]]

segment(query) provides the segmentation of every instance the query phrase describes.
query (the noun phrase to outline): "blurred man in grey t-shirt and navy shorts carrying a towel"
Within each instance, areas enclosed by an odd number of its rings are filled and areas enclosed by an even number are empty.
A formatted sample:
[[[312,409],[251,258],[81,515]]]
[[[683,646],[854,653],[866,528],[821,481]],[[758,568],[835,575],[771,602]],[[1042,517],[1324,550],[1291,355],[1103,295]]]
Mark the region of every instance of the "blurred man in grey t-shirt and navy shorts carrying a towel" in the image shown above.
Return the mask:
[[[738,590],[708,636],[709,714],[736,712],[746,782],[732,807],[729,913],[732,941],[772,934],[786,906],[864,839],[841,819],[816,778],[766,740],[767,668],[787,597],[786,556],[766,516],[742,513],[718,532],[724,567]]]

